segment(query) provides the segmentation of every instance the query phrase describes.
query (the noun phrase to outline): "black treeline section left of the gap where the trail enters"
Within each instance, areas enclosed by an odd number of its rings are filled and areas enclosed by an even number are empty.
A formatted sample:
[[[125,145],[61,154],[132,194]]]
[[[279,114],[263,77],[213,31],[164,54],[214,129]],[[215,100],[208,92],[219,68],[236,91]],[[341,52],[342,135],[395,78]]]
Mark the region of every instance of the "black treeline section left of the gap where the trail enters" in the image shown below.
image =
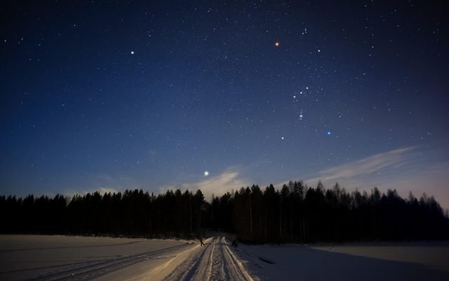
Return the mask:
[[[1,233],[192,237],[205,224],[207,205],[201,190],[100,192],[24,199],[0,197]]]

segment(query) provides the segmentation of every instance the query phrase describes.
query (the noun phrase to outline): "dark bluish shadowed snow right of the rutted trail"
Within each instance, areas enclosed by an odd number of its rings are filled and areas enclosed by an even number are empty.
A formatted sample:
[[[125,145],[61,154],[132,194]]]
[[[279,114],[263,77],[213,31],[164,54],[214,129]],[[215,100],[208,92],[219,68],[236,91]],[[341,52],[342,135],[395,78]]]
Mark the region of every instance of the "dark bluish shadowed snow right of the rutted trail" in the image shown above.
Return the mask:
[[[449,242],[239,244],[234,252],[260,280],[449,280]]]

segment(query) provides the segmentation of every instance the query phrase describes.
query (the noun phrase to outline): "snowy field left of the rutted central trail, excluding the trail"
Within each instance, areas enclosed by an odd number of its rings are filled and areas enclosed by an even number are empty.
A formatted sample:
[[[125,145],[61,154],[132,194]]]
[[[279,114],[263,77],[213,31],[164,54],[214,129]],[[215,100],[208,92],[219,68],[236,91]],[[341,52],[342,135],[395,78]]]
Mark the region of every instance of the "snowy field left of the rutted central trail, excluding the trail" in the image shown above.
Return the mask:
[[[0,280],[138,280],[197,243],[111,237],[0,235]],[[174,265],[175,263],[173,263]],[[160,270],[170,273],[173,268]],[[132,274],[129,269],[132,268]],[[123,273],[121,278],[119,273]],[[107,279],[112,280],[112,279]]]

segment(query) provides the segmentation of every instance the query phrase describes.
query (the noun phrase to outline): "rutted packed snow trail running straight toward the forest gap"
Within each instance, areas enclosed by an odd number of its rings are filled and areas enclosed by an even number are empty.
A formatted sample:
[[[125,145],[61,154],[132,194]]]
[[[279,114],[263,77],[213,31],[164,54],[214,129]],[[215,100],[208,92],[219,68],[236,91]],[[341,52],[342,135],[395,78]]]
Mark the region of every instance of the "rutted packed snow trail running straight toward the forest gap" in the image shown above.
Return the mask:
[[[213,237],[201,251],[194,251],[166,280],[253,281],[253,278],[229,249],[225,237]]]

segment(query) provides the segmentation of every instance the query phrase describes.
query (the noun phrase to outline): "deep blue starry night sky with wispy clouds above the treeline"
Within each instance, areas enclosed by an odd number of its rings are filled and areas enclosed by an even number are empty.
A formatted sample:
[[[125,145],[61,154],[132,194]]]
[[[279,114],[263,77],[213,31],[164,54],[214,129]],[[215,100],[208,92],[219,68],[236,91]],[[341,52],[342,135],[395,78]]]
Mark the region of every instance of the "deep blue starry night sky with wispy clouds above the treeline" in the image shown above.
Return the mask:
[[[1,1],[1,194],[321,179],[449,207],[445,1],[187,2]]]

